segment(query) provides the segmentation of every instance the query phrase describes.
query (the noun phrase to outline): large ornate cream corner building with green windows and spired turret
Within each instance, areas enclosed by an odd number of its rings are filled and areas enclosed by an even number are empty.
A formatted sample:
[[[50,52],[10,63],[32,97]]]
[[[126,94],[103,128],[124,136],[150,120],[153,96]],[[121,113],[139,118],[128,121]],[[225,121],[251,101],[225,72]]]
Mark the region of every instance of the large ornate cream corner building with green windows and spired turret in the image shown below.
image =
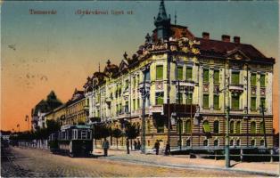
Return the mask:
[[[239,36],[194,36],[170,23],[163,1],[154,25],[135,54],[87,78],[86,122],[139,125],[147,149],[161,140],[175,150],[215,150],[226,144],[228,111],[230,147],[272,148],[275,59]]]

